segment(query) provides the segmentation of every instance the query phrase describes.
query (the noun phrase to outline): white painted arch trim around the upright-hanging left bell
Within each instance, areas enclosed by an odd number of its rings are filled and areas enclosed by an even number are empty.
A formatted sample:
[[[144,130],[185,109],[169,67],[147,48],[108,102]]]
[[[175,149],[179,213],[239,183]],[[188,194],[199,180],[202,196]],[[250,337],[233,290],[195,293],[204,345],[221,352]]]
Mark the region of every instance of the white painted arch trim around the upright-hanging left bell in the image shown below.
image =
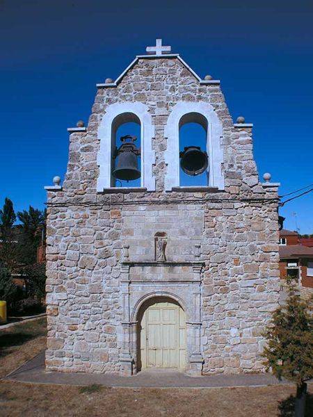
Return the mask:
[[[97,154],[97,165],[99,165],[97,191],[102,193],[104,188],[111,188],[112,124],[115,117],[122,113],[134,113],[141,122],[141,187],[154,191],[155,179],[152,176],[152,165],[155,163],[154,150],[152,150],[154,126],[149,108],[139,101],[114,103],[106,108],[98,129],[100,149]]]

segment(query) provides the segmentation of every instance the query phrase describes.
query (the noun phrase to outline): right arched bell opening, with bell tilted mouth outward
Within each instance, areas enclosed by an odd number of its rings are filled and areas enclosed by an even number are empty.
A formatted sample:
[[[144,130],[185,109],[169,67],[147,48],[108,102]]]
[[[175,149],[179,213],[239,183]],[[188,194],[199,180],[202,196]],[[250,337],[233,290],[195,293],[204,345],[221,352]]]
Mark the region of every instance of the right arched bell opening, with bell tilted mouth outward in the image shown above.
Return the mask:
[[[208,186],[207,118],[187,113],[179,120],[179,186]]]

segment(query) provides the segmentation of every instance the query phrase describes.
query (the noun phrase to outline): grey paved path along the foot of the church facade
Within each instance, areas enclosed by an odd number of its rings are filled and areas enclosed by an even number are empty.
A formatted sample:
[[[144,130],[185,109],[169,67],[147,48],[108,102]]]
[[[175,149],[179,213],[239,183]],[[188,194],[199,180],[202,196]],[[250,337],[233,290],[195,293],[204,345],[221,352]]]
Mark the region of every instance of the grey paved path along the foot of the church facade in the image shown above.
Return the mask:
[[[65,384],[86,386],[101,384],[127,388],[218,388],[234,386],[267,386],[287,384],[268,374],[213,375],[209,377],[188,377],[175,371],[145,370],[132,377],[86,373],[46,373],[45,352],[24,363],[10,373],[6,379],[36,384]]]

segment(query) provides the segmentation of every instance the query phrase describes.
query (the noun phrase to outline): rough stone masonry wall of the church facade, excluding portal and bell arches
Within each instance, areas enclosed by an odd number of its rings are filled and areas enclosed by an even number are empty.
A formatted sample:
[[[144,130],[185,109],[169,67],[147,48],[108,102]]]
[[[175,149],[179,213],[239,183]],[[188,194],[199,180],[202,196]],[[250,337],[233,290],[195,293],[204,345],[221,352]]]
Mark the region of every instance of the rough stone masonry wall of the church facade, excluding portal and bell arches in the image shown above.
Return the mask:
[[[167,138],[178,101],[207,101],[223,123],[223,192],[163,191]],[[156,193],[96,192],[97,129],[106,107],[141,101],[155,126]],[[48,193],[47,370],[120,371],[122,248],[152,260],[154,233],[170,261],[200,243],[204,373],[263,370],[264,325],[278,302],[277,189],[259,183],[250,128],[234,127],[219,85],[200,85],[176,58],[140,59],[116,88],[99,88],[86,133],[70,135],[63,190]]]

